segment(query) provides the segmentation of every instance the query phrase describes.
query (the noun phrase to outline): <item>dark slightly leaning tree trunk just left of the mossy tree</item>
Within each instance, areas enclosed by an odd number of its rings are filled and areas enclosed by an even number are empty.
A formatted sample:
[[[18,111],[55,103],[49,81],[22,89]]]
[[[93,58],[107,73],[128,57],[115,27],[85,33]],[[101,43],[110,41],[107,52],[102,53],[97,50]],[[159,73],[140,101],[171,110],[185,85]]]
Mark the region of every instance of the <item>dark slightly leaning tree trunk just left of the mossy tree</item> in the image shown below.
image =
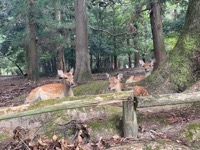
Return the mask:
[[[150,22],[153,35],[154,56],[156,59],[154,69],[157,69],[166,57],[160,2],[152,2],[150,7]]]

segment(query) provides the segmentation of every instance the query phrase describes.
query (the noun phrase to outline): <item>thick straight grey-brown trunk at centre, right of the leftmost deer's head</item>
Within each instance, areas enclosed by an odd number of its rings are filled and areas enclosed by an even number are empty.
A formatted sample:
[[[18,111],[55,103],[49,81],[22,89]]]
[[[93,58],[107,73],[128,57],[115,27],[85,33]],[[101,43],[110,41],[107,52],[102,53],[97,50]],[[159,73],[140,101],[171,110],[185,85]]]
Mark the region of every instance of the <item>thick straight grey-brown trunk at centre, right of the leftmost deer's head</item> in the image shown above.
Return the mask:
[[[88,51],[86,1],[75,0],[76,24],[76,70],[75,81],[85,82],[92,79]]]

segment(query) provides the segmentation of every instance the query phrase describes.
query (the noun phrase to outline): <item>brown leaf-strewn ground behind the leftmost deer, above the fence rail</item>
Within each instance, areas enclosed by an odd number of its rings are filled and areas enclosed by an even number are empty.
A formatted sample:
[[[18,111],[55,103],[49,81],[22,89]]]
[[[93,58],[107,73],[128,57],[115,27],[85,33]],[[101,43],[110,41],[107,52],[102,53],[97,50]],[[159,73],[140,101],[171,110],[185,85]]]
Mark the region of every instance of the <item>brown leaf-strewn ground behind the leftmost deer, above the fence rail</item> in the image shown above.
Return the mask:
[[[41,78],[37,84],[34,84],[21,76],[0,76],[0,107],[21,105],[33,88],[55,82],[59,82],[59,80]]]

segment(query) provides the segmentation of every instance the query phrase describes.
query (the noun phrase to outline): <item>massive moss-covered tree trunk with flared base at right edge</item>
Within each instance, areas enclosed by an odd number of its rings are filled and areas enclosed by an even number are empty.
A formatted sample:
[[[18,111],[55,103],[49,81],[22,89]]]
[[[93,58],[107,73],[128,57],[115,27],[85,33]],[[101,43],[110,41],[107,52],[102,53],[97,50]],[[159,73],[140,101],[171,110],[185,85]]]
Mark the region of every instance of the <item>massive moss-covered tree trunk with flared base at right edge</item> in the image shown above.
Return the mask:
[[[169,58],[148,79],[154,93],[182,92],[200,77],[200,1],[190,0],[182,33]]]

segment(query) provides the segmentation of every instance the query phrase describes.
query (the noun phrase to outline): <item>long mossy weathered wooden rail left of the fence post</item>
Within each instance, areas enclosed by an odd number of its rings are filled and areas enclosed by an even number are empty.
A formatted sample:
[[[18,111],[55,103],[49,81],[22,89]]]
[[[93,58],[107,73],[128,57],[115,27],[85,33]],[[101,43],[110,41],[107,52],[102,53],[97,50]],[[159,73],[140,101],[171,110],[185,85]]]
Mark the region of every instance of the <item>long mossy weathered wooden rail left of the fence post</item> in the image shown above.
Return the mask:
[[[65,97],[63,99],[38,101],[16,107],[0,108],[0,120],[37,115],[46,112],[82,107],[94,107],[126,101],[132,91],[109,93],[101,95],[88,95],[79,97]]]

